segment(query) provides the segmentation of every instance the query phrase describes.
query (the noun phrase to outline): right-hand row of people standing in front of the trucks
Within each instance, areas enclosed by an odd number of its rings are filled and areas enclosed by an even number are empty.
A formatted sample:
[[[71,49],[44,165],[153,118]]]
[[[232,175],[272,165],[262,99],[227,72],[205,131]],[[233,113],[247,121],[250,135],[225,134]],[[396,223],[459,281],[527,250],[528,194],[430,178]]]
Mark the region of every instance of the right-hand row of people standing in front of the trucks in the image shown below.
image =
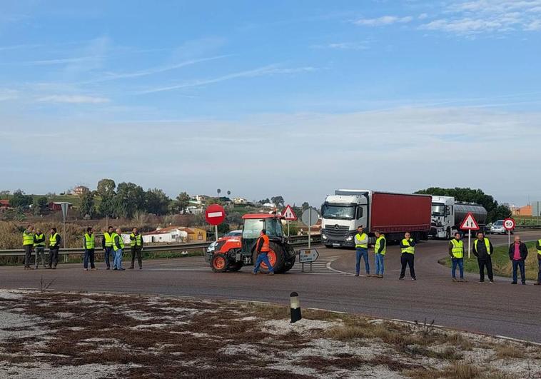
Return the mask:
[[[355,235],[355,248],[356,248],[356,265],[355,276],[359,276],[360,273],[360,260],[365,261],[365,270],[367,276],[370,275],[370,263],[368,260],[368,234],[364,233],[363,227],[360,226],[357,229],[358,233]],[[387,241],[385,235],[380,231],[375,232],[375,277],[383,278],[383,264],[387,247]],[[534,285],[541,285],[541,239],[536,243],[537,248],[537,261],[539,264],[539,272],[537,274],[537,282]],[[494,273],[492,271],[492,254],[494,253],[494,246],[485,234],[482,232],[477,233],[477,238],[473,242],[473,255],[477,257],[477,264],[479,266],[479,282],[485,281],[485,269],[487,271],[488,280],[490,283],[494,282]],[[400,280],[403,280],[405,276],[406,266],[410,268],[410,276],[413,281],[415,277],[415,241],[411,238],[410,233],[405,233],[404,238],[400,241]],[[462,241],[462,234],[455,233],[454,238],[449,241],[448,253],[451,257],[451,276],[453,282],[466,282],[464,278],[464,242]],[[517,284],[518,271],[520,271],[520,279],[522,284],[526,284],[525,276],[525,261],[528,256],[528,248],[525,243],[520,241],[520,236],[515,236],[515,241],[509,246],[509,258],[512,262],[512,284]],[[456,277],[456,271],[459,271],[460,278]]]

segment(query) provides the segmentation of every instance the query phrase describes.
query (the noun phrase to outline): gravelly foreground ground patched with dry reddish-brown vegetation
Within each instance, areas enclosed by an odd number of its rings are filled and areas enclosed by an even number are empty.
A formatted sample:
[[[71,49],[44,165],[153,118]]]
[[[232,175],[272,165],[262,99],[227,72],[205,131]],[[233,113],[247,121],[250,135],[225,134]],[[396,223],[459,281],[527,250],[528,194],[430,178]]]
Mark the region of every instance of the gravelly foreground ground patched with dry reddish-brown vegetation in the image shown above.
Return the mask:
[[[541,346],[193,298],[0,290],[1,378],[541,378]]]

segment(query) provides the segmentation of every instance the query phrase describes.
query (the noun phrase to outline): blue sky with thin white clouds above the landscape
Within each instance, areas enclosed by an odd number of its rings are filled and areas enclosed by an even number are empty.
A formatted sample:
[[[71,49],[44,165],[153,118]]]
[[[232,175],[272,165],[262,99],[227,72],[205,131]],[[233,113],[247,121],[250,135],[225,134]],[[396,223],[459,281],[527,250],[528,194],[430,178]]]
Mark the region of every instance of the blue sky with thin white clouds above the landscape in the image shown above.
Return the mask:
[[[0,1],[0,189],[541,199],[541,0]]]

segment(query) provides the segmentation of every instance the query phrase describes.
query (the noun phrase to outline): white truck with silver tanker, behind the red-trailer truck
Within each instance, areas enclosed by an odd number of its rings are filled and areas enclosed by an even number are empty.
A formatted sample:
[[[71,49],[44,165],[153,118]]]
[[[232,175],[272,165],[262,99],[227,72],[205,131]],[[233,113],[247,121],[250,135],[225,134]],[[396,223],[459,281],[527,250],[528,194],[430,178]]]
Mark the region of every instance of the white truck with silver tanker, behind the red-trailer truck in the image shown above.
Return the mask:
[[[485,232],[487,210],[475,203],[460,203],[451,196],[432,196],[432,227],[430,237],[450,239],[456,232],[467,234],[460,230],[460,224],[471,212],[479,224],[480,231]]]

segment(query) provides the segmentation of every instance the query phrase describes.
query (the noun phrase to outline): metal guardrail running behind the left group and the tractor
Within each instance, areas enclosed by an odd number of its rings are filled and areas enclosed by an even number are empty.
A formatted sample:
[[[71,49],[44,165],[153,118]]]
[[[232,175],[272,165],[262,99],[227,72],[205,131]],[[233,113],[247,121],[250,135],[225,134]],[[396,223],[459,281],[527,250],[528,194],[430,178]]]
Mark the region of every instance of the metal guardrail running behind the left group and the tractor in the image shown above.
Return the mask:
[[[304,246],[308,244],[308,236],[290,236],[290,244],[292,246]],[[312,243],[320,243],[321,235],[312,235]],[[211,242],[199,242],[199,243],[171,243],[163,245],[147,245],[143,246],[143,253],[159,253],[165,251],[190,251],[197,249],[205,249]],[[129,248],[129,246],[128,246]],[[96,252],[101,251],[101,246],[96,248]],[[71,255],[83,255],[84,249],[82,248],[61,248],[59,255],[62,256],[71,256]],[[0,250],[0,257],[14,257],[14,256],[24,256],[23,249],[12,249],[12,250]]]

